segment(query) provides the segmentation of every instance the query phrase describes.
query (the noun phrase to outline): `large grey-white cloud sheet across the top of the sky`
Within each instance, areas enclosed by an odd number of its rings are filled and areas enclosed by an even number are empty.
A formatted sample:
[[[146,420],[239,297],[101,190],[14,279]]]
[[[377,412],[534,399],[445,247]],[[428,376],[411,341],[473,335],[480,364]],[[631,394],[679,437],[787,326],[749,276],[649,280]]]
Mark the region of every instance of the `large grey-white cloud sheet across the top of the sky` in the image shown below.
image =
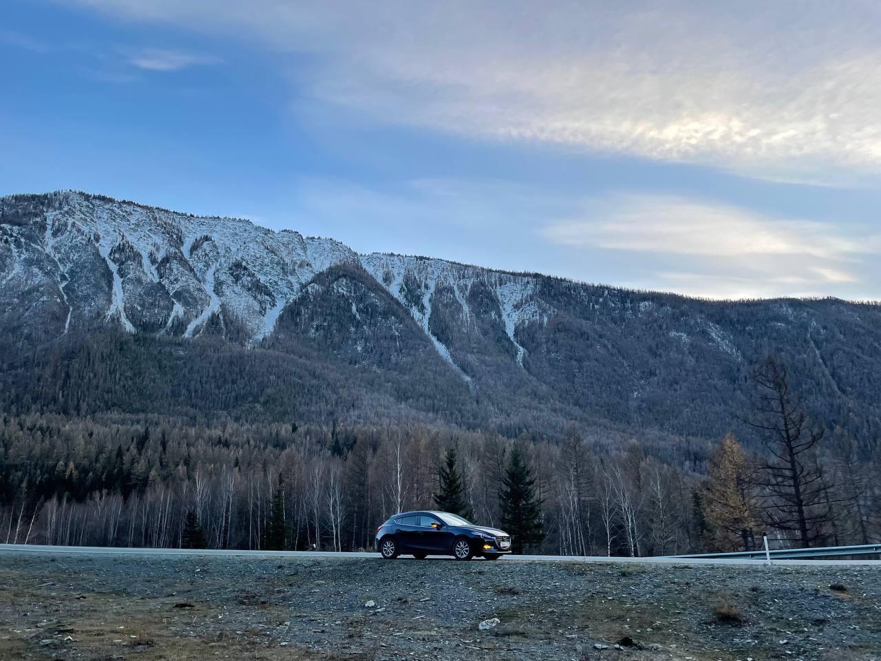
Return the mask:
[[[312,98],[375,121],[788,181],[881,172],[881,5],[862,0],[67,1],[315,54]]]

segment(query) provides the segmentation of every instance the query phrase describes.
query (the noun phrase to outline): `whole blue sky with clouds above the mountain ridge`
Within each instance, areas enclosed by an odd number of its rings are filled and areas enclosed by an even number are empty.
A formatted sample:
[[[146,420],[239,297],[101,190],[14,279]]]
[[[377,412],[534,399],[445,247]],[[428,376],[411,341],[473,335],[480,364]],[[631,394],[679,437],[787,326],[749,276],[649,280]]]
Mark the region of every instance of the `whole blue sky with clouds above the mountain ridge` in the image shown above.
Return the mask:
[[[4,0],[0,194],[881,299],[876,0]]]

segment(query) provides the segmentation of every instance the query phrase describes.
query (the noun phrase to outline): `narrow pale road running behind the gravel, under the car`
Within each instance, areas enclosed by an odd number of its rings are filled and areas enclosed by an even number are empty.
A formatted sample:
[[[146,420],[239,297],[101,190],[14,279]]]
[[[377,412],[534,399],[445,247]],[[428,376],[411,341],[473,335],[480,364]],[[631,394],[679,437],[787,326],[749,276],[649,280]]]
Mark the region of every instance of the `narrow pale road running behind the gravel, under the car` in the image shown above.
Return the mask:
[[[174,557],[177,555],[198,555],[204,557],[249,557],[249,558],[328,558],[337,560],[369,560],[380,561],[379,553],[335,551],[246,551],[227,549],[185,549],[185,548],[117,548],[111,546],[41,546],[35,544],[0,544],[3,553],[84,553],[86,555],[159,555]],[[403,556],[403,560],[408,560]],[[433,558],[435,561],[452,558]],[[605,556],[582,555],[508,555],[502,558],[505,562],[605,562],[611,564],[650,563],[670,565],[742,565],[755,567],[765,561],[730,559],[730,558],[607,558]],[[855,566],[868,565],[881,567],[877,560],[775,560],[774,565],[784,566]]]

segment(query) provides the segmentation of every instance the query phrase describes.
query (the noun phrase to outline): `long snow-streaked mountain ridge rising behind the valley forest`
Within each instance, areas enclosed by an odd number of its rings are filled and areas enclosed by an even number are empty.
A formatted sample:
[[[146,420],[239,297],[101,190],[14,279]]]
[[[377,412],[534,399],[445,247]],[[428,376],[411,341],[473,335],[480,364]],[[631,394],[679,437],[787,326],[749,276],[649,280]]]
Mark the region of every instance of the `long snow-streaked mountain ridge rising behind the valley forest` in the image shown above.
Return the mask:
[[[877,304],[359,255],[81,192],[0,197],[0,331],[14,412],[711,438],[739,428],[752,365],[777,353],[828,427],[867,446],[881,428]]]

